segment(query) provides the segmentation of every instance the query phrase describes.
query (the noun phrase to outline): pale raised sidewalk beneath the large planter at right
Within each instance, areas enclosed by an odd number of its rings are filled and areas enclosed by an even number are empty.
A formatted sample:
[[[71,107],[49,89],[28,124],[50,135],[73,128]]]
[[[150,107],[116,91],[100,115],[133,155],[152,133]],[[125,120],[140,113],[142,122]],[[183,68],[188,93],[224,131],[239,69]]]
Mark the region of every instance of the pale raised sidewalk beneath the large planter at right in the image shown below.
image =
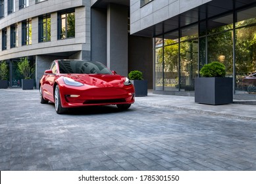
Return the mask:
[[[136,103],[166,106],[178,110],[192,110],[203,114],[240,118],[244,120],[256,119],[255,105],[243,104],[243,101],[234,100],[233,104],[209,105],[195,103],[195,97],[177,95],[156,95],[151,91],[147,97],[136,97]]]

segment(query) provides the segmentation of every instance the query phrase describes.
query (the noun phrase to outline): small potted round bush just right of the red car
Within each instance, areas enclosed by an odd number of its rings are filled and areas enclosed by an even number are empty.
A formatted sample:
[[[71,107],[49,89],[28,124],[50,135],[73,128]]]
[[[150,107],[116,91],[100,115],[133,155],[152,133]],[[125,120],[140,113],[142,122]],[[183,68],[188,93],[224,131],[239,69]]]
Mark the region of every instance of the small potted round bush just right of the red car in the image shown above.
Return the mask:
[[[143,80],[142,72],[133,70],[128,74],[128,78],[134,85],[136,97],[147,96],[147,80]]]

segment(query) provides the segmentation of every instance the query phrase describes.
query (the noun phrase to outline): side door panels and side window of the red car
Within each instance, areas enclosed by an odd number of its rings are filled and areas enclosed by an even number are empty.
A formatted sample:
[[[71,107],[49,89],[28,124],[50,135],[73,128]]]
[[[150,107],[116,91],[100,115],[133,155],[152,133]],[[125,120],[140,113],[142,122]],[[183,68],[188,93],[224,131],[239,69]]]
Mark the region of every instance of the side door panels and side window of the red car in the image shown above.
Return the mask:
[[[55,78],[57,74],[57,66],[55,61],[51,64],[50,70],[52,70],[53,74],[47,74],[45,75],[45,81],[44,81],[44,89],[45,89],[45,97],[49,99],[50,101],[54,102],[54,83]]]

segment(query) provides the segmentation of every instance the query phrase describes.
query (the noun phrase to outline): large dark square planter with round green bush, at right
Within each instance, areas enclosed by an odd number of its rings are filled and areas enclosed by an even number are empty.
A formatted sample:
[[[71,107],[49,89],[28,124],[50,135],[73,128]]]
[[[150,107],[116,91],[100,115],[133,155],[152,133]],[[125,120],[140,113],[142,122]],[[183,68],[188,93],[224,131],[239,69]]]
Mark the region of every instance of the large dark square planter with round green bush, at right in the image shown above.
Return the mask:
[[[195,78],[195,103],[233,103],[233,78],[225,78],[226,68],[220,62],[205,64],[201,78]]]

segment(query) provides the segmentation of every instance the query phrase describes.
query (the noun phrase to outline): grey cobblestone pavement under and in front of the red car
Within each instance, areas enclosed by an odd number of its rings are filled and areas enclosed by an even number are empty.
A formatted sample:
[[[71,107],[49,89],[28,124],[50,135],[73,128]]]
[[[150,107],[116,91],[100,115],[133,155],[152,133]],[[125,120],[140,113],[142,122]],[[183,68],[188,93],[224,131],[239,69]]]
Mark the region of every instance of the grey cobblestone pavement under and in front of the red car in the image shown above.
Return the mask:
[[[0,170],[256,170],[255,118],[146,98],[123,112],[59,115],[39,103],[38,90],[0,89]]]

